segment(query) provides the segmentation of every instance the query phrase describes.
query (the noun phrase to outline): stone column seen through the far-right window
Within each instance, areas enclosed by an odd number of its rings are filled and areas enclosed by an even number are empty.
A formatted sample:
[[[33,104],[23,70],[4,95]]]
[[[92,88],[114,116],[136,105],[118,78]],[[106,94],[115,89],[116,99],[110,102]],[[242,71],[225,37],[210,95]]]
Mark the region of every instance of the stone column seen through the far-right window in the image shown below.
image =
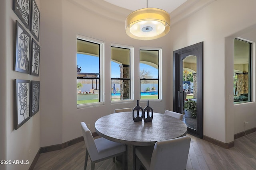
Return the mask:
[[[248,72],[237,74],[237,96],[248,94]]]

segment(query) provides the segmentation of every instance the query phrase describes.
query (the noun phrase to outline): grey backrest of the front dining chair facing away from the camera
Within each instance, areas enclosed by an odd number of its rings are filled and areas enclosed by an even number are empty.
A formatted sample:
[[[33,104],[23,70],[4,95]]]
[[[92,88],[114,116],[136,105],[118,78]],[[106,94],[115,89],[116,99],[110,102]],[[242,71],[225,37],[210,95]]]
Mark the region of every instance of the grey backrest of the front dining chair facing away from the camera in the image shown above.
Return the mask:
[[[150,162],[150,170],[185,170],[191,138],[188,136],[158,141]]]

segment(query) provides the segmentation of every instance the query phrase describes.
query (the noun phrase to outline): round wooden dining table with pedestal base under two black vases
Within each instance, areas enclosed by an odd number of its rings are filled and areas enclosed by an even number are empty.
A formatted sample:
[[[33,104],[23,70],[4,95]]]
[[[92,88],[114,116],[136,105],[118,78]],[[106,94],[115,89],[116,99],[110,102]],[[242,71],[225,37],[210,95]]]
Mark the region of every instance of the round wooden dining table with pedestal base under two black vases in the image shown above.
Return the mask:
[[[95,122],[98,135],[127,145],[128,170],[135,169],[135,146],[154,146],[157,141],[187,134],[186,124],[162,113],[153,113],[152,122],[134,122],[132,112],[113,113]]]

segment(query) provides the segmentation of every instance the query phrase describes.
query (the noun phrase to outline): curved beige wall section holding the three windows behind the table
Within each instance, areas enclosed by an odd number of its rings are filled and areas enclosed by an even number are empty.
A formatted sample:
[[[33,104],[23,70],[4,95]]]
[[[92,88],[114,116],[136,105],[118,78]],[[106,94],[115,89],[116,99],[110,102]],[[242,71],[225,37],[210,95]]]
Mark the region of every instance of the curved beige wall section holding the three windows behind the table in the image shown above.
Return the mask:
[[[51,3],[51,6],[49,6]],[[87,6],[90,8],[90,6]],[[163,91],[169,93],[171,53],[170,35],[154,41],[139,41],[128,37],[124,29],[124,20],[104,18],[90,10],[76,6],[67,0],[41,1],[41,87],[44,93],[41,100],[41,146],[64,143],[82,136],[80,121],[90,124],[95,131],[95,121],[114,109],[134,107],[135,102],[111,104],[111,43],[134,46],[134,84],[135,101],[140,98],[139,49],[140,47],[162,47],[163,51]],[[76,108],[76,35],[84,35],[104,41],[104,105]],[[47,67],[46,67],[47,65]],[[162,102],[150,102],[154,111],[164,113],[172,109],[172,96],[164,95]],[[146,102],[141,104],[146,107]]]

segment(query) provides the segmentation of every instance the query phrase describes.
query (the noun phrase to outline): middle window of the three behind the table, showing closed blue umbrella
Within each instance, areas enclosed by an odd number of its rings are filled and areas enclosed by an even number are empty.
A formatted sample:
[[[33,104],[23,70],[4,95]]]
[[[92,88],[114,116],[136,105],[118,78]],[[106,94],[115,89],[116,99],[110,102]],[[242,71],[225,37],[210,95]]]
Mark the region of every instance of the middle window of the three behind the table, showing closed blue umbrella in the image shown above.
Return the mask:
[[[111,101],[131,99],[131,49],[111,47]]]

